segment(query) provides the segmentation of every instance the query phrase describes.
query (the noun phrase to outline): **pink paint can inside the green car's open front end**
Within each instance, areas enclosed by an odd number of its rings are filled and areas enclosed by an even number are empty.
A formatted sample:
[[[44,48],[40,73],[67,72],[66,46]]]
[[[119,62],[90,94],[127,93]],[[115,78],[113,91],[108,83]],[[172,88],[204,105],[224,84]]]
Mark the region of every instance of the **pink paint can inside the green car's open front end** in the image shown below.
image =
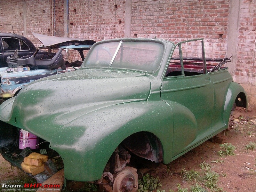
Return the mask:
[[[36,149],[37,145],[37,136],[27,132],[23,129],[20,130],[20,140],[19,140],[19,149],[24,149],[30,147],[31,149]]]

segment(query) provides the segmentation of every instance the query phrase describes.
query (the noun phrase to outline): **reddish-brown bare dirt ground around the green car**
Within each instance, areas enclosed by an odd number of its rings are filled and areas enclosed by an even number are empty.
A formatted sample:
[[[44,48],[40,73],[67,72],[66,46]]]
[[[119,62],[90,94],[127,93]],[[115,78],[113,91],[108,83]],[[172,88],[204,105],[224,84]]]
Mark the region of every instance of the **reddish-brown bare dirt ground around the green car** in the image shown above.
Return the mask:
[[[234,156],[221,156],[220,144],[206,141],[200,146],[192,149],[185,155],[174,160],[168,165],[155,164],[149,161],[140,163],[139,172],[149,172],[159,176],[166,192],[169,189],[178,191],[177,184],[181,188],[190,188],[198,181],[185,181],[182,170],[201,171],[199,164],[202,162],[211,165],[212,171],[219,176],[218,186],[226,192],[256,192],[256,149],[246,149],[249,142],[256,143],[256,109],[249,108],[245,113],[243,108],[236,108],[233,115],[240,117],[235,119],[234,129],[227,133],[227,142],[236,147]],[[139,167],[138,167],[139,168]],[[28,180],[25,173],[18,170],[0,156],[0,180]],[[30,181],[32,182],[32,181]],[[35,181],[34,181],[35,182]],[[201,183],[198,183],[201,185]],[[1,188],[1,186],[0,186]]]

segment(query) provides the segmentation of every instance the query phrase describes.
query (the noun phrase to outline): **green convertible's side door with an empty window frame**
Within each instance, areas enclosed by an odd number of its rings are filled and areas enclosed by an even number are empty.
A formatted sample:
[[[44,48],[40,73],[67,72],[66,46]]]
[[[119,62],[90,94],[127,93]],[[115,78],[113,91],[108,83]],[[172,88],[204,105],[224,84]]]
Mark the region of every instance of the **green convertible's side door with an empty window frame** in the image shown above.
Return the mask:
[[[204,52],[201,63],[188,63],[181,47],[180,58],[171,59],[161,87],[161,99],[173,111],[173,159],[214,133],[214,89],[206,74]]]

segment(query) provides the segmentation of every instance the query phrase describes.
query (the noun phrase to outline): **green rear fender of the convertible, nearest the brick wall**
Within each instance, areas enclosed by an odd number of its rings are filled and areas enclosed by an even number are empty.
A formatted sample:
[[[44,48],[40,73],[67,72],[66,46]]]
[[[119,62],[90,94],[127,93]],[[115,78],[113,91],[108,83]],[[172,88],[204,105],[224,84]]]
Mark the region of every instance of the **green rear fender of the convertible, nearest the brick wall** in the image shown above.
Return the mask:
[[[237,107],[248,108],[247,95],[244,88],[236,82],[231,82],[228,87],[223,113],[223,122],[226,128],[228,128],[228,120],[234,103],[236,103]]]

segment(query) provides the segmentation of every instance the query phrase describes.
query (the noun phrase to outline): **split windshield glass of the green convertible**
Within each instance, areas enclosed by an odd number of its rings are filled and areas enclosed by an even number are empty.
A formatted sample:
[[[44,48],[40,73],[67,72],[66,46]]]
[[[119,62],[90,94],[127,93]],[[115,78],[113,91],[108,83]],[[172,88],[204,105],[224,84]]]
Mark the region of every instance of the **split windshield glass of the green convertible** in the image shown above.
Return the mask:
[[[82,68],[120,68],[154,72],[162,60],[164,47],[155,42],[118,41],[95,46]]]

